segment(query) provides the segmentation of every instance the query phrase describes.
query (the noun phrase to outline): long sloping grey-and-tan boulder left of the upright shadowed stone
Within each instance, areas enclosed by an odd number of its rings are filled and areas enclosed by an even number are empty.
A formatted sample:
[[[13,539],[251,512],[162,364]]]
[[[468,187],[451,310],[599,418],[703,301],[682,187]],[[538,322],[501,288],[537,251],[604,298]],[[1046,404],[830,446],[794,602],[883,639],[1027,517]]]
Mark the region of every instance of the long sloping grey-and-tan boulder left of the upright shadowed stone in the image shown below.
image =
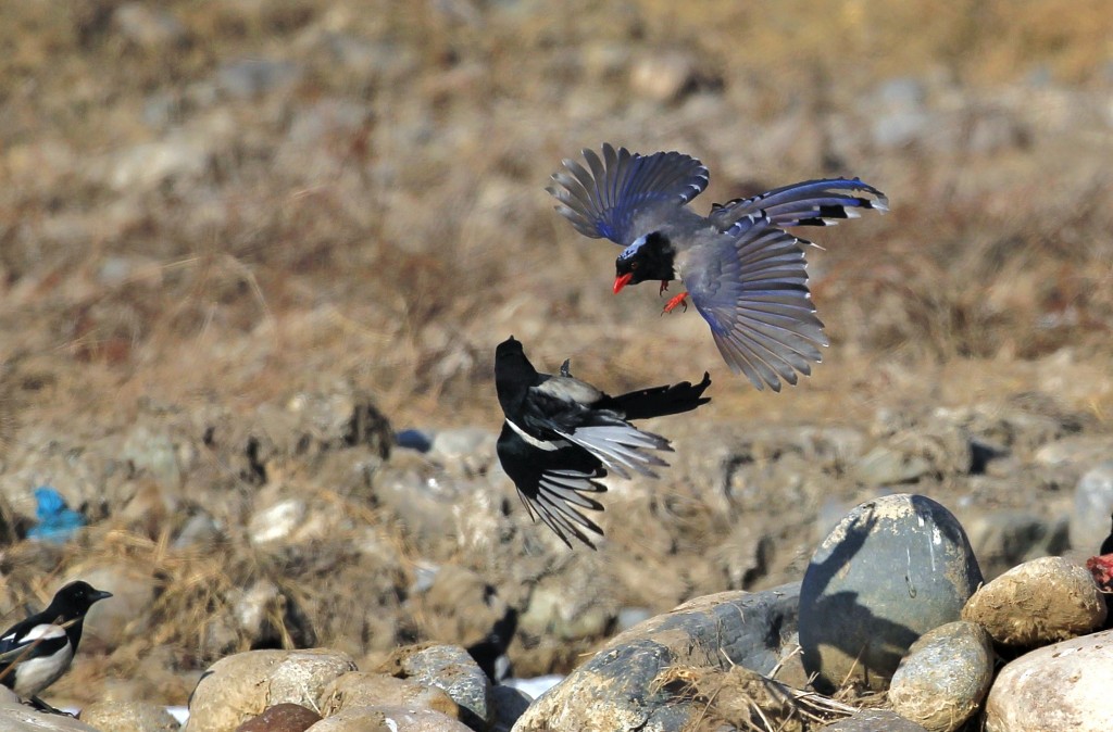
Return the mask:
[[[731,664],[769,674],[790,653],[799,585],[692,600],[607,643],[522,714],[515,732],[684,729],[706,701],[677,702],[660,674],[677,665]]]

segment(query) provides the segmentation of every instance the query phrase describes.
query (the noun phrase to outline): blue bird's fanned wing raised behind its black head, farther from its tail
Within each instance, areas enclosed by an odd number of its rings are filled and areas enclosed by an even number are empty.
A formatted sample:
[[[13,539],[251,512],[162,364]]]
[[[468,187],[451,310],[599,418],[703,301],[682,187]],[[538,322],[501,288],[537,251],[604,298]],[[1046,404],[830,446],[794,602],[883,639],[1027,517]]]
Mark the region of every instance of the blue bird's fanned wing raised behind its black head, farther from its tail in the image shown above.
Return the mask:
[[[604,144],[602,159],[594,150],[584,150],[583,158],[587,168],[565,159],[564,169],[552,176],[556,185],[545,190],[560,201],[556,210],[577,231],[622,246],[638,238],[633,231],[637,214],[657,206],[682,206],[708,184],[703,164],[680,152],[643,156]]]

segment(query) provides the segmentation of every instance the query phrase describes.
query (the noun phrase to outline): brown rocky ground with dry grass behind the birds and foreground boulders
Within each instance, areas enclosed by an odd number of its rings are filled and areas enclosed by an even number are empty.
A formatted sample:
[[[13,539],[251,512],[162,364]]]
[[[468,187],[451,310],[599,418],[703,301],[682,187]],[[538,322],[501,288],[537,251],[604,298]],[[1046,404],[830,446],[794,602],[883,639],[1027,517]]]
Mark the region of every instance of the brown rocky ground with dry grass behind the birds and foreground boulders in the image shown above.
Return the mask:
[[[2,13],[0,612],[73,576],[116,593],[56,703],[183,703],[249,649],[364,669],[508,607],[516,673],[565,672],[686,600],[799,580],[895,491],[953,511],[987,577],[1109,532],[1104,3]],[[700,157],[700,210],[885,190],[892,214],[815,235],[815,376],[756,393],[696,313],[611,294],[615,248],[543,190],[602,141]],[[710,405],[647,425],[661,479],[610,482],[598,553],[494,461],[511,334],[611,392],[711,373]],[[24,538],[45,485],[89,524],[67,543]]]

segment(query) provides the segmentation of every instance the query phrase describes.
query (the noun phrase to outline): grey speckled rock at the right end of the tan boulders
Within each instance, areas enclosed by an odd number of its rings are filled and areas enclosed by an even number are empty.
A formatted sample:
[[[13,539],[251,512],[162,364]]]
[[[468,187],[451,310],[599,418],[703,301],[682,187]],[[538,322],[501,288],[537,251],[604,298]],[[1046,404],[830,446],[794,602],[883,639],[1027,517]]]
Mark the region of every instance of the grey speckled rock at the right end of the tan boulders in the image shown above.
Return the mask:
[[[444,690],[460,705],[461,721],[471,728],[486,729],[494,721],[491,680],[460,646],[400,649],[381,670]]]

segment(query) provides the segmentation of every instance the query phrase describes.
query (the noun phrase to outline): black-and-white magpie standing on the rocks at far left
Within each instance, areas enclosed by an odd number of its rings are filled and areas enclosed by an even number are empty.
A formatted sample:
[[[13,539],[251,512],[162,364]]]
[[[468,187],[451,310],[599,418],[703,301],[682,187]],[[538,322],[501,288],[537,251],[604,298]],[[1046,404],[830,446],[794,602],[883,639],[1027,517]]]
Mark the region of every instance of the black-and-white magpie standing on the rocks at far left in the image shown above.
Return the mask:
[[[69,669],[89,607],[111,596],[87,582],[71,582],[41,613],[4,631],[0,635],[0,683],[40,709],[51,710],[38,694]]]

